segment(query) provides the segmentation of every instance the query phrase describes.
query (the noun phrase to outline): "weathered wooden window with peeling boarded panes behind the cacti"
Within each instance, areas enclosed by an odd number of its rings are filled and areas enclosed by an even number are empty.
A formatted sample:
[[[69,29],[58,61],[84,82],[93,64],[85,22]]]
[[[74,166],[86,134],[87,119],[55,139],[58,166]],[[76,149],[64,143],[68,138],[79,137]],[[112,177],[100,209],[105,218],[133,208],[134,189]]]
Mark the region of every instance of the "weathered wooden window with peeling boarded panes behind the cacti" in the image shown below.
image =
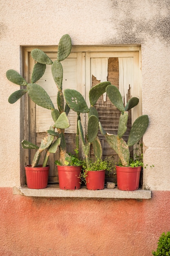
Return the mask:
[[[31,79],[34,60],[31,57],[31,50],[34,48],[42,49],[54,61],[57,57],[57,47],[22,47],[24,59],[23,72],[25,79]],[[141,115],[141,47],[136,46],[73,46],[71,54],[62,61],[63,65],[63,89],[72,88],[82,93],[88,103],[88,92],[90,88],[100,82],[110,81],[119,87],[119,90],[126,102],[130,96],[139,97],[139,104],[129,115],[128,128],[130,129],[133,120]],[[51,97],[56,106],[57,88],[51,75],[51,65],[46,65],[46,72],[38,81]],[[48,86],[50,84],[50,86]],[[24,105],[24,106],[23,106]],[[56,106],[57,107],[57,106]],[[109,133],[115,133],[118,128],[119,111],[110,103],[106,94],[102,95],[96,103],[100,121]],[[46,130],[53,124],[50,110],[35,106],[27,95],[22,100],[24,118],[23,134],[25,139],[34,144],[38,144]],[[22,117],[21,117],[22,118]],[[83,128],[86,130],[86,115],[82,115]],[[74,137],[76,133],[77,114],[73,111],[69,113],[71,126],[65,130],[67,151],[74,153]],[[111,124],[111,125],[110,125]],[[110,128],[111,127],[111,128]],[[128,130],[129,130],[128,129]],[[128,131],[126,136],[128,136]],[[115,155],[113,149],[107,144],[104,136],[99,134],[102,141],[103,156]],[[23,137],[22,137],[23,139]],[[23,153],[24,151],[24,153]],[[26,152],[24,164],[29,164],[33,157],[33,151]],[[93,150],[91,151],[93,154]],[[50,174],[49,182],[58,182],[57,168],[54,164],[57,153],[51,154],[49,159]],[[117,156],[115,155],[115,159]],[[24,182],[24,173],[21,175],[21,183]]]

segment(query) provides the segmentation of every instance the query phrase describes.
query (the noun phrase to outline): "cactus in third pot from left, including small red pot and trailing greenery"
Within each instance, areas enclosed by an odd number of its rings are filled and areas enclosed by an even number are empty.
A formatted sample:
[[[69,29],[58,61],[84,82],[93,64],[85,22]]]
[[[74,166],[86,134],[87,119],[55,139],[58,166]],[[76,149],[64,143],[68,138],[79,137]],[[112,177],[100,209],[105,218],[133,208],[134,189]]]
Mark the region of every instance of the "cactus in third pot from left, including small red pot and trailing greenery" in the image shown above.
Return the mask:
[[[99,119],[94,105],[99,97],[105,92],[106,86],[109,84],[110,82],[102,82],[91,88],[89,91],[89,101],[91,103],[89,109],[82,94],[71,89],[64,90],[64,97],[68,106],[72,110],[79,112],[79,106],[83,106],[86,112],[88,112],[88,127],[86,136],[84,137],[80,119],[78,120],[78,129],[85,156],[83,172],[80,176],[82,180],[85,181],[87,189],[91,190],[104,189],[105,169],[108,167],[108,162],[105,160],[102,161],[101,159],[102,146],[99,138],[97,137],[99,130]],[[93,146],[95,159],[91,159],[90,157],[91,145]]]

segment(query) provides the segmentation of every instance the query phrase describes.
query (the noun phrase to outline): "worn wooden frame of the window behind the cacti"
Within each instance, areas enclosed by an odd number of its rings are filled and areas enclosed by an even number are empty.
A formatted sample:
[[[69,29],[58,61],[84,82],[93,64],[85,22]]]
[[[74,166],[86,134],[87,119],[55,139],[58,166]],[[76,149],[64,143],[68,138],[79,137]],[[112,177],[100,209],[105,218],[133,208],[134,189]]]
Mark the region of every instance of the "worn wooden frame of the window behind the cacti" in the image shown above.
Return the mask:
[[[26,81],[30,78],[30,66],[34,64],[34,60],[31,58],[31,51],[34,48],[39,48],[46,52],[47,55],[57,52],[57,46],[22,46],[22,73]],[[78,81],[80,84],[79,92],[82,93],[88,106],[88,92],[91,88],[91,58],[96,58],[97,56],[107,58],[107,57],[133,57],[134,59],[134,84],[135,89],[132,88],[131,94],[133,96],[139,97],[140,101],[138,108],[132,113],[132,123],[142,112],[142,100],[141,100],[141,46],[140,45],[86,45],[79,46],[73,45],[71,53],[77,53],[77,58],[82,65],[77,65],[77,72],[79,72],[82,79]],[[81,86],[83,85],[83,86]],[[135,92],[135,94],[134,94]],[[33,103],[27,95],[21,98],[21,139],[26,138],[33,143],[35,143],[35,103]],[[85,115],[84,115],[85,117]],[[23,122],[24,120],[24,122]],[[83,127],[86,130],[86,119],[82,118]],[[24,164],[30,162],[31,155],[27,152],[28,150],[23,150],[21,148],[21,160],[20,160],[20,182],[21,186],[25,185],[25,173]]]

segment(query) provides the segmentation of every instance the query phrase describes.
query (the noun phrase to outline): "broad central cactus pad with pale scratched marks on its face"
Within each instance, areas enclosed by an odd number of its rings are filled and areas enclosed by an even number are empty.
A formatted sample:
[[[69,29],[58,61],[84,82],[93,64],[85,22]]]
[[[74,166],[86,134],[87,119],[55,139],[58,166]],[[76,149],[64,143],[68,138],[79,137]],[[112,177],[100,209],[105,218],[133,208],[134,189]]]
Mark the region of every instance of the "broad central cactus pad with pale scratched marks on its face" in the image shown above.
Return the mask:
[[[65,89],[64,97],[66,99],[68,106],[75,112],[87,113],[89,111],[86,101],[84,100],[84,97],[81,93],[77,92],[76,90]]]

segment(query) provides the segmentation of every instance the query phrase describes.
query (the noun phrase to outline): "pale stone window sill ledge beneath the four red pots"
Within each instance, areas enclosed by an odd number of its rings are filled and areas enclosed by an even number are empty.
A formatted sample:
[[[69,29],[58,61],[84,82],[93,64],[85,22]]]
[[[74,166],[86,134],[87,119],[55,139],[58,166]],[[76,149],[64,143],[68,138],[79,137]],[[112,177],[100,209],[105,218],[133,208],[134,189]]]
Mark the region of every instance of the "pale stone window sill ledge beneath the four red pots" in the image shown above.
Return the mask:
[[[48,185],[46,189],[28,189],[24,187],[13,187],[13,194],[34,196],[34,197],[56,197],[56,198],[130,198],[150,199],[150,190],[139,189],[136,191],[121,191],[117,188],[103,190],[88,190],[82,186],[78,190],[62,190],[59,185]]]

